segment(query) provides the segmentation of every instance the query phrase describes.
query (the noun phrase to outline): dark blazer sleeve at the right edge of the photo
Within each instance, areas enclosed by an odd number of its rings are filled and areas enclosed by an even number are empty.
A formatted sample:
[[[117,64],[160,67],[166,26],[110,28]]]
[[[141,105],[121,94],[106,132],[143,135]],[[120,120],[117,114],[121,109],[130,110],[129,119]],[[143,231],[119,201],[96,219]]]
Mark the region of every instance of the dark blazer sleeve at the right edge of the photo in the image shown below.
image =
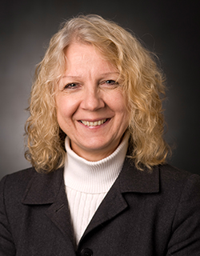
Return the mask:
[[[182,190],[167,255],[200,255],[200,177],[196,174]]]

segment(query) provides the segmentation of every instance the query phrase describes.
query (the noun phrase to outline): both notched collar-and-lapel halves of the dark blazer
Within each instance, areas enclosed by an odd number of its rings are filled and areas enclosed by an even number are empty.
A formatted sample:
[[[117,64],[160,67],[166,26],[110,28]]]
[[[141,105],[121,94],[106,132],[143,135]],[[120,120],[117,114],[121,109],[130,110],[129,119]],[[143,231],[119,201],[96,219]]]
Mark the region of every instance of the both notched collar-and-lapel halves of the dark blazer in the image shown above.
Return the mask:
[[[135,168],[130,158],[126,158],[121,173],[98,207],[82,239],[97,226],[111,220],[124,210],[128,210],[129,207],[123,197],[124,193],[158,193],[158,191],[158,166],[151,172],[148,170],[141,171]],[[46,216],[61,230],[63,235],[68,236],[74,246],[70,210],[63,181],[63,169],[55,170],[50,174],[35,172],[26,188],[22,203],[41,206],[50,204]]]

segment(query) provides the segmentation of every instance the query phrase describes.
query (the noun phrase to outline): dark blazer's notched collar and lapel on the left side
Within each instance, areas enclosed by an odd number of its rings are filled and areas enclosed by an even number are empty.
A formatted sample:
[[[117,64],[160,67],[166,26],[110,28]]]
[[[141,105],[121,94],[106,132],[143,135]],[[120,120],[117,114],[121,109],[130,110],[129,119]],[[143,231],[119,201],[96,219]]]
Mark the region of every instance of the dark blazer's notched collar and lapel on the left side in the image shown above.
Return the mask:
[[[63,169],[55,170],[50,174],[35,172],[26,188],[22,203],[30,206],[41,205],[41,207],[50,204],[46,210],[46,216],[61,230],[63,235],[70,238],[74,245],[70,211],[63,181]]]

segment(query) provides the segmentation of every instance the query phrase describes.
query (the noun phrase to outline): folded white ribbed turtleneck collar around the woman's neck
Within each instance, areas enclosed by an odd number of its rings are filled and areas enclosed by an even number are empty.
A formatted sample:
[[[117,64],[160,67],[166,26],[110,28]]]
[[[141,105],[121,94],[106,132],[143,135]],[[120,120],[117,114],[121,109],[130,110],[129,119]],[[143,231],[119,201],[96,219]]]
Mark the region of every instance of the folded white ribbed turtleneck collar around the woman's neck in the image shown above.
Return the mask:
[[[107,192],[122,170],[129,137],[130,133],[126,131],[118,148],[110,156],[97,162],[87,161],[75,154],[70,148],[70,138],[66,137],[65,185],[85,193]]]

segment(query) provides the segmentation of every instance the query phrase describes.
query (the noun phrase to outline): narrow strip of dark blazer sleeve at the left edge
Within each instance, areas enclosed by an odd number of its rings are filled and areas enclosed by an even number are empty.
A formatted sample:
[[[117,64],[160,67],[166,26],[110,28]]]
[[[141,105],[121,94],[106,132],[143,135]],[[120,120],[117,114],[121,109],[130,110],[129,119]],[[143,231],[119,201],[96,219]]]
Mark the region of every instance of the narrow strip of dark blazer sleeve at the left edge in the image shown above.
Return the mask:
[[[2,181],[0,182],[0,255],[14,256],[16,253],[15,246],[10,232],[10,224],[6,215],[4,194],[5,183],[6,177],[2,178]]]

